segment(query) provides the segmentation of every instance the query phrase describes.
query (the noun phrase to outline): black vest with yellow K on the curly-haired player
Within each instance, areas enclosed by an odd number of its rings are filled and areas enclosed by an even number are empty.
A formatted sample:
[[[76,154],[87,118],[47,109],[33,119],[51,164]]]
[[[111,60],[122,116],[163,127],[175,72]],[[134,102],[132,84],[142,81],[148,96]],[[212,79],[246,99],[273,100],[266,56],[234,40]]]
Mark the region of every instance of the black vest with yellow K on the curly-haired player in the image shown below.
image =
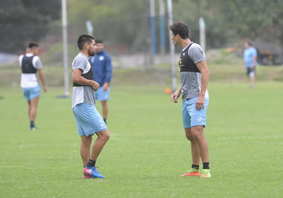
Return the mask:
[[[179,59],[179,67],[180,72],[198,72],[200,73],[200,70],[198,70],[198,67],[195,65],[193,60],[189,57],[188,51],[190,47],[192,46],[193,42],[189,44],[189,46],[182,51],[180,59]]]

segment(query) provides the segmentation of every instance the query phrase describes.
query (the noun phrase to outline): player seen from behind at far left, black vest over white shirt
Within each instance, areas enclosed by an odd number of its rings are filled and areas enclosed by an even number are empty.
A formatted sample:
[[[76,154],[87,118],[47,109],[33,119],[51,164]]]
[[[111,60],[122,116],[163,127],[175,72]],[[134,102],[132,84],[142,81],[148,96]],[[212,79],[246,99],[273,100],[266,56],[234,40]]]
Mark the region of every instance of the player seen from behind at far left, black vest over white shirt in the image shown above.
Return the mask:
[[[19,57],[20,67],[22,69],[21,88],[28,103],[30,130],[37,129],[34,121],[36,118],[37,105],[39,102],[40,86],[36,73],[39,74],[39,78],[43,84],[43,90],[44,92],[46,92],[46,84],[42,72],[42,63],[40,58],[37,56],[38,51],[39,44],[31,42],[27,47],[26,54],[20,55]]]

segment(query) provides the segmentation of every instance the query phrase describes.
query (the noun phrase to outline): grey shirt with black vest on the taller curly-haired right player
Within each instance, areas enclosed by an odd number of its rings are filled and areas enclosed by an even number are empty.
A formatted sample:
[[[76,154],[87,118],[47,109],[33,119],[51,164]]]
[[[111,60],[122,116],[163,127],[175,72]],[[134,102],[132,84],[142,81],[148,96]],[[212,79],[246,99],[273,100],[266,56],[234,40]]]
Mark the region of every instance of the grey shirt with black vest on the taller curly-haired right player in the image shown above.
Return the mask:
[[[191,42],[182,50],[179,66],[183,101],[200,95],[201,73],[195,64],[202,60],[205,60],[205,53],[199,44]],[[209,98],[207,90],[205,98]]]

